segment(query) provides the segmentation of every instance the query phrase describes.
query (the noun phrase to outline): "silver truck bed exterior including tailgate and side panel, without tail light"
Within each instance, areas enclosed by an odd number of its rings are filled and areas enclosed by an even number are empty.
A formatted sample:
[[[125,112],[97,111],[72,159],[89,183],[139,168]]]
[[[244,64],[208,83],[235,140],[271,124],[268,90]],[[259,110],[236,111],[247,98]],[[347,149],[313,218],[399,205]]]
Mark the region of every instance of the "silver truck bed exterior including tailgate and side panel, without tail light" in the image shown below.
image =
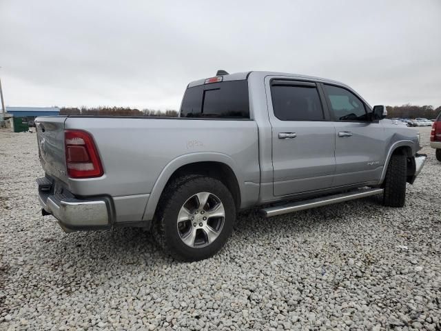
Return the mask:
[[[258,199],[260,172],[255,121],[66,116],[39,117],[36,123],[46,174],[76,197],[112,197],[117,212],[123,211],[116,215],[119,221],[150,217],[144,214],[145,205],[155,185],[165,185],[158,181],[161,174],[175,171],[190,157],[193,161],[225,162],[237,174],[241,187],[247,183],[256,186],[256,194],[249,199]],[[103,176],[84,180],[66,175],[64,130],[92,134]]]

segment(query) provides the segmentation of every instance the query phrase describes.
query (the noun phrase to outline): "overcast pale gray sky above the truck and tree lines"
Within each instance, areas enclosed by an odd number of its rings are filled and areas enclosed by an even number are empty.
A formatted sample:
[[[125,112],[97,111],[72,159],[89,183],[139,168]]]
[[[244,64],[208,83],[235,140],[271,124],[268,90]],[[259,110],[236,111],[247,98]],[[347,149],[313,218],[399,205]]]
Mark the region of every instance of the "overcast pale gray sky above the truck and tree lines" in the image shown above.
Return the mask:
[[[189,81],[224,69],[438,107],[440,18],[440,0],[0,0],[0,74],[8,106],[178,109]]]

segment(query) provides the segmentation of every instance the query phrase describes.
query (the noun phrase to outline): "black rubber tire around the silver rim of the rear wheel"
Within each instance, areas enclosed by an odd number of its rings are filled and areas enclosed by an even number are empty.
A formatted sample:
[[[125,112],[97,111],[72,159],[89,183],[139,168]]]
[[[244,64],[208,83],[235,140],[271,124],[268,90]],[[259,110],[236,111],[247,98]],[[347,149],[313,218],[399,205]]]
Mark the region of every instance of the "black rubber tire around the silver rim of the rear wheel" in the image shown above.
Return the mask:
[[[199,192],[214,194],[223,204],[225,217],[223,217],[223,226],[218,232],[218,237],[212,243],[194,248],[185,244],[181,239],[177,220],[186,201]],[[223,248],[232,233],[235,221],[236,205],[227,187],[218,179],[191,174],[174,180],[165,188],[156,210],[153,233],[157,243],[172,257],[183,261],[198,261],[212,257]]]

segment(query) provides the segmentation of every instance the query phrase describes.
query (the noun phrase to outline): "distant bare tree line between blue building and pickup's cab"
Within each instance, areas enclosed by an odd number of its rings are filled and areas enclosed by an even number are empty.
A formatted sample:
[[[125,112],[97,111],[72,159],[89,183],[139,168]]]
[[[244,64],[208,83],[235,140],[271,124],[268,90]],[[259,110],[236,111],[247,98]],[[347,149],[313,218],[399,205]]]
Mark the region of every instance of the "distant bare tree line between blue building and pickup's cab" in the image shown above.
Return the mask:
[[[136,109],[130,107],[81,107],[60,108],[60,115],[90,115],[90,116],[150,116],[150,117],[177,117],[176,110]]]

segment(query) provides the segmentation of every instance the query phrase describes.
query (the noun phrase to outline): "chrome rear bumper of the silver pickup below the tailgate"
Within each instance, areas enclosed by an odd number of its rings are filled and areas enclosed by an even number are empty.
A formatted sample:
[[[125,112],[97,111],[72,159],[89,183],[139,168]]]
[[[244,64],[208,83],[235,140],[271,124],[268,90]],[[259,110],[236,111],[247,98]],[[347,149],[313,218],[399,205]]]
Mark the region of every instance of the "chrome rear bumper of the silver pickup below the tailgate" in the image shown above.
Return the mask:
[[[52,183],[45,177],[37,179],[39,201],[47,214],[52,214],[66,232],[110,228],[110,198],[76,199],[68,194],[53,194]]]

